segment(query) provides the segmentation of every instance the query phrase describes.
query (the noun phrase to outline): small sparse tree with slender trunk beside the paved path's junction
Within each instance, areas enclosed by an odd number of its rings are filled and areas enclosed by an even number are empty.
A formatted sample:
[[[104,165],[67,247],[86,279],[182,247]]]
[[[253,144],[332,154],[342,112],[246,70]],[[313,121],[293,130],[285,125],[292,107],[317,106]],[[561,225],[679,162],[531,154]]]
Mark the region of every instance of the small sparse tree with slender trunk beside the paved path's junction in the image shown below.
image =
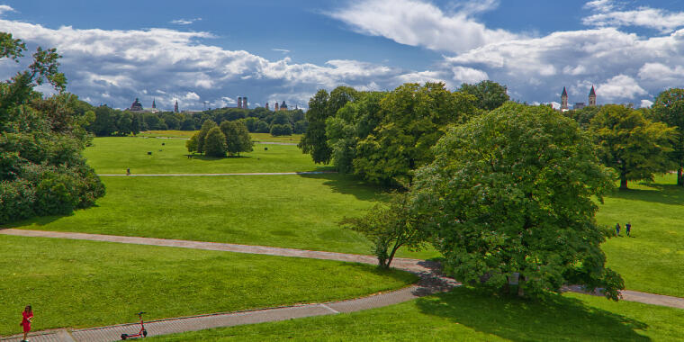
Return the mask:
[[[339,224],[371,240],[378,266],[390,268],[399,248],[406,246],[410,250],[418,250],[423,247],[424,235],[418,222],[410,211],[409,196],[395,194],[389,206],[377,204],[365,216],[345,218]]]

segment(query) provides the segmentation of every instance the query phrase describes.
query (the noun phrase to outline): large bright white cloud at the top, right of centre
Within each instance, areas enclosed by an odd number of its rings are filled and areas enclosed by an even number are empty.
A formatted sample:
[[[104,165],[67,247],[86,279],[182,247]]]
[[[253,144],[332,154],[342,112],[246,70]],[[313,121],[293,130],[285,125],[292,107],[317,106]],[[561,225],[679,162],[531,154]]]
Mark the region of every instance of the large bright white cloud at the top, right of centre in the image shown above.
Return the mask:
[[[490,10],[497,1],[470,2],[445,13],[435,4],[419,0],[356,0],[329,16],[354,30],[381,36],[401,44],[451,52],[463,52],[517,35],[492,30],[478,23],[473,13]]]

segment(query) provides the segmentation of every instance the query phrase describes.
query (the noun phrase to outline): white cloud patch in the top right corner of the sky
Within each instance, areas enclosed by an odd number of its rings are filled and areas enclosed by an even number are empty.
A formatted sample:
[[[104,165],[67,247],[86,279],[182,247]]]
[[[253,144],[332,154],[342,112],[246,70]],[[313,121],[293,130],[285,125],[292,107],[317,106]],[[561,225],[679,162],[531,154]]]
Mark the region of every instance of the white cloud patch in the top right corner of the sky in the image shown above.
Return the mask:
[[[640,26],[662,32],[684,27],[684,12],[670,12],[648,6],[622,10],[624,6],[625,4],[614,0],[591,1],[586,7],[598,13],[584,18],[582,23],[598,27]]]

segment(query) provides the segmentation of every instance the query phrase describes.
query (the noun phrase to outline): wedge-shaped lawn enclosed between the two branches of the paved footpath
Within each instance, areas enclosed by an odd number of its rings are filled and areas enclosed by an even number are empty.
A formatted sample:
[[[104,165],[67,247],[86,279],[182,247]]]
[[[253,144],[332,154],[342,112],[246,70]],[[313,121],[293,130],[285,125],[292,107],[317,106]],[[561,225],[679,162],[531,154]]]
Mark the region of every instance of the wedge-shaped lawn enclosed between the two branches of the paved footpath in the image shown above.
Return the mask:
[[[0,336],[347,299],[403,287],[414,275],[373,266],[58,238],[0,238]]]

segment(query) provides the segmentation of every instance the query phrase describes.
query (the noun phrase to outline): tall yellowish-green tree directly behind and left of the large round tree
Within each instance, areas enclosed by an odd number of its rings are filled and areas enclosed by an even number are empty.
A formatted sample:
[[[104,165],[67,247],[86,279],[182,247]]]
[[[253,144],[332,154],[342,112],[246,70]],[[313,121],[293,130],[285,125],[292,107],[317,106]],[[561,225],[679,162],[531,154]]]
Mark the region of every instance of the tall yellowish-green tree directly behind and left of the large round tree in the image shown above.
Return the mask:
[[[354,170],[381,184],[409,184],[413,170],[432,161],[431,147],[450,124],[467,121],[474,112],[472,95],[451,93],[442,83],[405,84],[380,103],[382,118],[358,142]]]

